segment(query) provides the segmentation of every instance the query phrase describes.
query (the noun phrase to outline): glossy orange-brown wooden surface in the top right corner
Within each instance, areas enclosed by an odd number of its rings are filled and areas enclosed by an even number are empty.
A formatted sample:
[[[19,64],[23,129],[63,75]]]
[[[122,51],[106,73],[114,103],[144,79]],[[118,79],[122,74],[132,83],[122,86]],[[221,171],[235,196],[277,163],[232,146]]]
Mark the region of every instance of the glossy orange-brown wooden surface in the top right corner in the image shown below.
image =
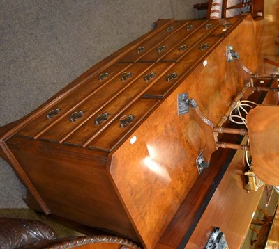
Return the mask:
[[[260,59],[259,72],[279,73],[278,67],[264,63],[264,56],[275,56],[275,40],[279,38],[279,1],[265,0],[264,20],[255,22],[257,54]],[[278,53],[278,51],[277,51]]]

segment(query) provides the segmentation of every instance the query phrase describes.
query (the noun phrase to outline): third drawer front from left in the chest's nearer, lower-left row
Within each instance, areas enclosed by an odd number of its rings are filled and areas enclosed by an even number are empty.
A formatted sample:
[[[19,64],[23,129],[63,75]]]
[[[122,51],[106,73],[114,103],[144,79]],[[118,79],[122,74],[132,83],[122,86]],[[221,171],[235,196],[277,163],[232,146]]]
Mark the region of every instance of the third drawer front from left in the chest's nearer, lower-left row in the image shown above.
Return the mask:
[[[137,79],[132,85],[126,88],[121,95],[118,95],[110,103],[100,109],[96,115],[93,115],[73,134],[71,134],[64,143],[86,147],[100,132],[107,129],[109,125],[123,113],[126,109],[133,105],[142,94],[150,88],[162,74],[173,64],[160,63],[154,65]],[[60,141],[62,142],[62,140]]]

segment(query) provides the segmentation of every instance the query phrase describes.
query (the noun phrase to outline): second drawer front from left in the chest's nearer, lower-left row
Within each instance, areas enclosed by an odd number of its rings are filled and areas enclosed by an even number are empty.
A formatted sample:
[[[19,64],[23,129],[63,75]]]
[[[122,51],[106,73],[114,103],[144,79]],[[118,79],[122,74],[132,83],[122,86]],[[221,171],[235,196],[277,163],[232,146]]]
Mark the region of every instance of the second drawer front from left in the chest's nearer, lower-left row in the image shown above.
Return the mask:
[[[127,68],[126,72],[119,74],[119,76],[110,81],[110,83],[100,88],[96,93],[93,93],[89,99],[82,102],[75,110],[68,113],[68,115],[59,120],[59,122],[56,122],[50,129],[45,130],[38,138],[61,143],[85,122],[93,117],[96,118],[96,115],[100,115],[100,111],[102,111],[107,104],[115,104],[116,106],[116,103],[114,103],[116,99],[124,99],[125,101],[127,98],[126,92],[128,90],[133,89],[133,93],[130,93],[130,95],[133,94],[134,96],[130,97],[135,97],[137,91],[141,92],[143,90],[142,88],[146,88],[146,82],[144,82],[141,87],[138,87],[137,79],[144,81],[142,78],[145,74],[150,72],[150,67],[152,65],[151,63],[131,65]],[[128,77],[128,74],[131,74],[131,76]],[[127,77],[127,79],[121,79],[121,77]],[[80,117],[76,117],[75,120],[71,120],[73,113],[81,113],[81,115]]]

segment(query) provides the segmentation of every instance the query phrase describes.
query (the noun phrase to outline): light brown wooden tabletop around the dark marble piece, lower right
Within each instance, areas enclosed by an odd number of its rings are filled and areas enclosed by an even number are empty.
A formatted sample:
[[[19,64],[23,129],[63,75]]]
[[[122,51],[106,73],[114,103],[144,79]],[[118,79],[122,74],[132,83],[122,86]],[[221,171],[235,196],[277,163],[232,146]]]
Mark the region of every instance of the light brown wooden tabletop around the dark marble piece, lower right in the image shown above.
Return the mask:
[[[244,171],[243,152],[238,151],[185,248],[204,248],[214,227],[225,234],[230,248],[241,248],[264,190],[247,193]]]

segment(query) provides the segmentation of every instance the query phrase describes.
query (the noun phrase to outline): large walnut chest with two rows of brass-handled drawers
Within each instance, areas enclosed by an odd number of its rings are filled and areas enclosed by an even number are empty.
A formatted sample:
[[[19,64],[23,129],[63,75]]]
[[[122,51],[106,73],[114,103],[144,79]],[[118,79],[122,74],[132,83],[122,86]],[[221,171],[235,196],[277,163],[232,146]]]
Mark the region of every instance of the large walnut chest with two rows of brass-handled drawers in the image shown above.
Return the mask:
[[[196,216],[209,179],[222,171],[210,165],[215,172],[202,186],[207,173],[199,175],[196,160],[206,138],[186,100],[194,98],[218,124],[244,86],[241,72],[226,62],[227,45],[252,71],[257,56],[250,15],[156,24],[27,117],[1,127],[0,152],[45,214],[145,248],[176,248],[190,223],[176,239],[164,232],[181,205]],[[197,203],[188,202],[195,193]]]

